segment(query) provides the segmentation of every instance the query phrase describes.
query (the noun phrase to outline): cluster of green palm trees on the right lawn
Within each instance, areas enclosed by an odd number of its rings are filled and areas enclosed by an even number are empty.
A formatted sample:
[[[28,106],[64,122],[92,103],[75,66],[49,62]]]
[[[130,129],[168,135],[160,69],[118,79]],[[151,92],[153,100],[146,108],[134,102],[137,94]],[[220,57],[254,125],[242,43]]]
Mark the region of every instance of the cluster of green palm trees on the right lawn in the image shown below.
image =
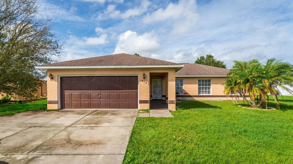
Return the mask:
[[[293,96],[293,91],[286,87],[293,87],[293,67],[275,58],[268,59],[264,65],[258,60],[234,61],[228,76],[223,84],[224,93],[227,96],[231,92],[239,94],[252,107],[260,107],[263,104],[268,108],[267,101],[270,94],[277,103],[277,108],[280,109],[277,98],[277,94],[280,93],[279,88]],[[246,99],[246,94],[249,95],[250,102]]]

